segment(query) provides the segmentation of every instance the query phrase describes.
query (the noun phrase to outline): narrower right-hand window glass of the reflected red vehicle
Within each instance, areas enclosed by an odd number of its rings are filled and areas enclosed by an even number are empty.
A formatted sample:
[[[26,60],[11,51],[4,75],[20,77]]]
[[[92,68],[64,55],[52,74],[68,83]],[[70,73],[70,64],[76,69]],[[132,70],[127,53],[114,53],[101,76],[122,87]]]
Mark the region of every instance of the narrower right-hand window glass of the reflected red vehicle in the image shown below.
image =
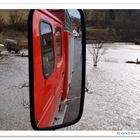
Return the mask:
[[[56,57],[57,62],[61,60],[62,49],[61,49],[61,29],[59,27],[56,28]]]

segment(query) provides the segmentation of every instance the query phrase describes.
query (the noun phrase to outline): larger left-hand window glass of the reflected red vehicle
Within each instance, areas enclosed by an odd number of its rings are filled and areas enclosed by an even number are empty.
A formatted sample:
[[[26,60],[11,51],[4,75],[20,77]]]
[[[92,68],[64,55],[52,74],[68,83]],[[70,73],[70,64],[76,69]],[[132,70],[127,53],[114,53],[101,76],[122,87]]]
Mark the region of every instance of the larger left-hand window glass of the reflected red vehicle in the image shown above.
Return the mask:
[[[48,78],[54,70],[53,32],[51,25],[46,22],[41,22],[40,26],[43,72]]]

